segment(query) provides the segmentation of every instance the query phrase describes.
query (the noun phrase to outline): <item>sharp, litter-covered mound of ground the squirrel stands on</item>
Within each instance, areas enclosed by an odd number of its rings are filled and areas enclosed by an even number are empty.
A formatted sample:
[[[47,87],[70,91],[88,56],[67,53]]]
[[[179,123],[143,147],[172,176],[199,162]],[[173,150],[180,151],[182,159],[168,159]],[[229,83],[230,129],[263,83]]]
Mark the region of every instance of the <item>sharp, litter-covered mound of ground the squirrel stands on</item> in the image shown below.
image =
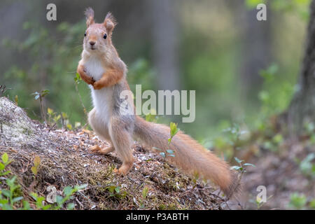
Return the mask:
[[[227,209],[219,190],[181,173],[161,155],[133,146],[134,167],[126,176],[114,169],[121,165],[116,153],[98,155],[89,148],[106,146],[89,130],[55,130],[31,120],[25,111],[5,97],[0,98],[0,155],[12,162],[10,174],[0,176],[0,189],[8,189],[6,179],[17,176],[22,196],[36,209],[30,193],[47,197],[48,186],[58,195],[66,186],[87,184],[69,202],[74,209]],[[40,158],[38,172],[32,170]],[[0,160],[1,161],[1,160]],[[51,188],[51,187],[50,187]],[[48,204],[47,201],[44,202]],[[15,209],[22,201],[15,203]]]

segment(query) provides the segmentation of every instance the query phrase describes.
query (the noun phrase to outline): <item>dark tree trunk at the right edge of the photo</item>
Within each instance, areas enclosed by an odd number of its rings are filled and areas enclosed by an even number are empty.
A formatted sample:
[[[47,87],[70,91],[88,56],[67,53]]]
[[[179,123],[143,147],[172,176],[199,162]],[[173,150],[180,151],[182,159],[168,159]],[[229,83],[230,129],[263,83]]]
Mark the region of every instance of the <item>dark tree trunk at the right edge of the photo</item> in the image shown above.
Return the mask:
[[[315,0],[310,6],[304,59],[287,119],[289,130],[294,134],[300,133],[305,123],[315,120]]]

